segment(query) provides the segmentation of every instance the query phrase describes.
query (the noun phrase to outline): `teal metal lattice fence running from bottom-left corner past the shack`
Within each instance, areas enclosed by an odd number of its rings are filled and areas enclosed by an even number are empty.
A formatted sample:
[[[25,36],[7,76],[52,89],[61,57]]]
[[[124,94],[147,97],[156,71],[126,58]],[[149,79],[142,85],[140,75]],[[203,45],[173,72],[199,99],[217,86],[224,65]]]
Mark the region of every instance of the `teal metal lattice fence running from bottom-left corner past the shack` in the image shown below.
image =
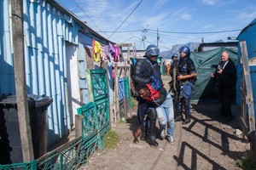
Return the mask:
[[[83,105],[78,114],[83,116],[82,136],[52,150],[32,162],[0,165],[2,169],[77,169],[96,151],[104,147],[104,137],[110,128],[108,84],[105,70],[90,71],[94,102]]]

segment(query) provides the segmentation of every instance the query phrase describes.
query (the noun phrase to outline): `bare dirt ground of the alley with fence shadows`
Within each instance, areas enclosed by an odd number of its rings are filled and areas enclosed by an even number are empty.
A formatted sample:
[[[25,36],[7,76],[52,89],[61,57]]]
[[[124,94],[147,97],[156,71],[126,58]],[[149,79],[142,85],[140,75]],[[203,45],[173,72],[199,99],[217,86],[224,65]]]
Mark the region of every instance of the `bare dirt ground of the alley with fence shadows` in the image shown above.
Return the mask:
[[[133,143],[135,110],[126,123],[112,124],[112,130],[119,134],[119,145],[97,151],[80,169],[241,169],[236,160],[247,154],[250,146],[241,134],[234,133],[239,128],[236,116],[240,109],[232,105],[234,118],[227,122],[218,117],[219,107],[219,103],[193,105],[191,122],[175,123],[174,144],[160,139],[158,129],[158,148],[144,141]]]

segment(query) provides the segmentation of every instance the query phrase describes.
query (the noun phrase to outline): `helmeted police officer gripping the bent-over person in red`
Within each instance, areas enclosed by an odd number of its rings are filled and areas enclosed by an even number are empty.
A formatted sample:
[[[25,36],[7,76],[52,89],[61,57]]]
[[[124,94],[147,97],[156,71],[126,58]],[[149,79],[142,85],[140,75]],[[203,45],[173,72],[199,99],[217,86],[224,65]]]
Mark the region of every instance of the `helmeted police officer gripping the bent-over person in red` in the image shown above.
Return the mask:
[[[140,59],[137,61],[137,65],[135,67],[135,76],[134,82],[135,87],[141,83],[146,82],[151,84],[152,88],[155,90],[159,90],[162,86],[162,80],[160,77],[160,65],[157,63],[157,57],[159,56],[160,50],[155,45],[149,45],[146,49],[145,59]],[[149,124],[148,126],[148,144],[153,147],[157,147],[158,143],[156,142],[155,136],[155,122],[157,118],[155,108],[157,105],[148,105],[144,99],[138,99],[138,110],[137,110],[137,118],[138,125],[142,129],[143,133],[147,131],[145,128],[147,127],[145,124]],[[145,117],[147,117],[150,123],[145,122]],[[142,139],[142,138],[141,138]]]

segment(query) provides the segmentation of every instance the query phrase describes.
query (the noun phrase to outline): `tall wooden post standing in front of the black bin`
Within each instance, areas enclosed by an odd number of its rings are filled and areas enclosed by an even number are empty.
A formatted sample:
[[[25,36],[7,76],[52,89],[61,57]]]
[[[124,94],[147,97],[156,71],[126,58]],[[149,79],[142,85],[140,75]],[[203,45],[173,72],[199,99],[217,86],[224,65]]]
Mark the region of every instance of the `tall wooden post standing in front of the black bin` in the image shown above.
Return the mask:
[[[23,33],[23,0],[12,0],[12,37],[15,69],[16,100],[20,127],[20,141],[23,161],[32,161],[32,134],[27,104],[24,33]]]

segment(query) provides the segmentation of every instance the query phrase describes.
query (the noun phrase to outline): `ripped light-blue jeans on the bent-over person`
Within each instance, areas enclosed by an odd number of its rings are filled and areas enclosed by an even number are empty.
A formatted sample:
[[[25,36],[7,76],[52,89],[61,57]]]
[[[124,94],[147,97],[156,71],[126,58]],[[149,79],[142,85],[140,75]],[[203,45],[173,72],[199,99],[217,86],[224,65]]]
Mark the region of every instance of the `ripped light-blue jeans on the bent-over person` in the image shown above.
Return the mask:
[[[174,111],[172,97],[170,94],[167,94],[166,101],[156,108],[157,117],[160,122],[160,125],[167,124],[167,134],[173,135],[174,133]]]

